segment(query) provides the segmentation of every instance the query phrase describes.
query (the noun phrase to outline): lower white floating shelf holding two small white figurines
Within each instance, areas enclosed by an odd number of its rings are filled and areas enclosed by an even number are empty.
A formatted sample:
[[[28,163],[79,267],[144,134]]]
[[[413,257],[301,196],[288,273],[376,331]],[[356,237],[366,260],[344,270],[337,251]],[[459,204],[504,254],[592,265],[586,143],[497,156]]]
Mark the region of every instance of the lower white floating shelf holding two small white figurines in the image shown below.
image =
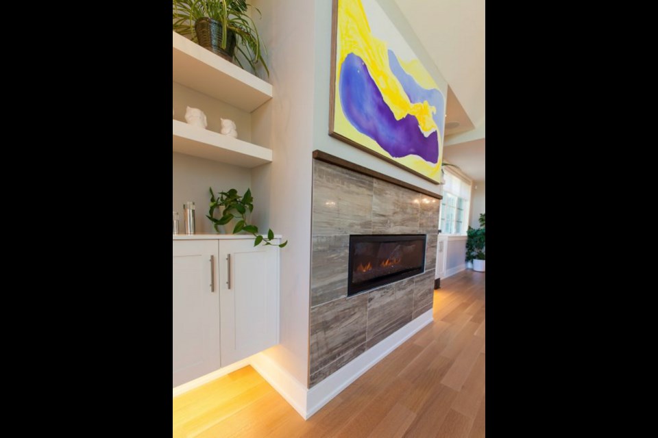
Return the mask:
[[[179,120],[173,120],[173,151],[245,168],[272,162],[271,149]]]

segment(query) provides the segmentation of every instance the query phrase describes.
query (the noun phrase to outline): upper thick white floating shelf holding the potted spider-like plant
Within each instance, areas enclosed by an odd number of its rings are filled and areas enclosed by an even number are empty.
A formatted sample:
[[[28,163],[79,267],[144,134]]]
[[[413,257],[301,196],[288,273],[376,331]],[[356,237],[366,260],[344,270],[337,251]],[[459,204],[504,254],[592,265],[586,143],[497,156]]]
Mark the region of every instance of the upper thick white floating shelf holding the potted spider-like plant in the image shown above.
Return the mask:
[[[246,112],[272,98],[272,86],[173,32],[173,81]]]

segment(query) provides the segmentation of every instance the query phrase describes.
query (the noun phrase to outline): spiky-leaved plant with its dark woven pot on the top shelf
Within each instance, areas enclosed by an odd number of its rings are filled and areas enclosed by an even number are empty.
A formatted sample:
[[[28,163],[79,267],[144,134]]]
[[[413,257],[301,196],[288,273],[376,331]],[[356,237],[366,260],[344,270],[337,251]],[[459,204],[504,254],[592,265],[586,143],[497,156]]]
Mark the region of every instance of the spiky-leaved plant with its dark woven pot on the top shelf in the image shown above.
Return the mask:
[[[173,30],[241,68],[247,62],[256,73],[263,60],[256,23],[247,14],[246,0],[173,0]],[[260,15],[258,8],[252,7]],[[241,56],[236,56],[236,52]]]

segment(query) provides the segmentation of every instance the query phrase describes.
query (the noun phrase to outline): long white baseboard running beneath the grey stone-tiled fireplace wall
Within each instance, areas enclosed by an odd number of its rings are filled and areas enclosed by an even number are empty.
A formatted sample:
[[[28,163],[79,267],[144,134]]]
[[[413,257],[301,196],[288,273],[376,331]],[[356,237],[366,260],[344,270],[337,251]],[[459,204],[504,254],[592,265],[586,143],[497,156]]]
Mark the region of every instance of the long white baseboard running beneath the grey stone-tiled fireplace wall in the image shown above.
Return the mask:
[[[417,331],[433,321],[432,309],[426,311],[415,320],[406,324],[402,329],[396,331],[376,346],[365,350],[356,359],[343,365],[337,372],[331,374],[308,390],[306,397],[306,417],[316,413],[321,407],[330,402],[332,398],[340,394],[363,373],[384,359],[390,352],[398,348],[400,344],[415,335]],[[303,415],[302,415],[303,416]]]

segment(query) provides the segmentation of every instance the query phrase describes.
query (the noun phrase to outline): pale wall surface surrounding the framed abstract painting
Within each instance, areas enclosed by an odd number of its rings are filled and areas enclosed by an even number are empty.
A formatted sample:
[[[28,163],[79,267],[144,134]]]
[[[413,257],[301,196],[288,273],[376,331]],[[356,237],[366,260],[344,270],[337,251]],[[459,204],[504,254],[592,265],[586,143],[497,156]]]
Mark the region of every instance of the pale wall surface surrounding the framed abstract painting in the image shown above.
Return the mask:
[[[395,26],[404,35],[406,42],[418,56],[419,60],[427,68],[428,72],[435,79],[441,89],[443,96],[448,95],[448,83],[439,70],[435,67],[430,56],[420,45],[413,29],[402,17],[402,13],[393,0],[378,0],[382,9],[387,13]],[[315,0],[315,86],[314,86],[314,132],[313,132],[313,149],[319,149],[341,157],[350,162],[361,164],[385,175],[400,179],[407,183],[417,185],[420,188],[430,190],[440,194],[440,185],[431,183],[413,175],[406,170],[385,162],[374,155],[371,155],[361,149],[341,142],[336,138],[330,137],[329,132],[329,84],[331,69],[331,8],[330,0]]]

